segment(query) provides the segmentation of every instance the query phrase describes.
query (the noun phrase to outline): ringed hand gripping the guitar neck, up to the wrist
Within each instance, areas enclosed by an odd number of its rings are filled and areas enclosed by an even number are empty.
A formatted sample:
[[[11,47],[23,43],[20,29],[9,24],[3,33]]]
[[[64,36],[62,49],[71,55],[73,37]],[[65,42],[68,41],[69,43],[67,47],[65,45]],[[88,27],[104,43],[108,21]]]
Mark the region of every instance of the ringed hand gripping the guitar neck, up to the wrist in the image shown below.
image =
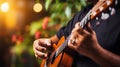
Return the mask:
[[[94,53],[94,50],[98,47],[98,42],[90,24],[85,29],[82,29],[77,23],[71,32],[68,46],[84,56]]]

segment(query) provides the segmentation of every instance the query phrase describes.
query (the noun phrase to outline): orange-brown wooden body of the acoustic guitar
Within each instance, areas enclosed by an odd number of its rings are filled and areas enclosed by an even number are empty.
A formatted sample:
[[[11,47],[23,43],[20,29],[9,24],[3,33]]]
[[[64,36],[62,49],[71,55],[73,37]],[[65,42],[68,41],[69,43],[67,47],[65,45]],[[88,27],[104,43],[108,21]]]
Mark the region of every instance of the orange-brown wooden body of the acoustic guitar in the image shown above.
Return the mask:
[[[54,54],[57,48],[65,41],[63,36],[57,45],[53,45],[55,49],[48,59],[43,59],[40,67],[72,67],[73,56],[67,52],[61,52],[57,57],[54,58]]]

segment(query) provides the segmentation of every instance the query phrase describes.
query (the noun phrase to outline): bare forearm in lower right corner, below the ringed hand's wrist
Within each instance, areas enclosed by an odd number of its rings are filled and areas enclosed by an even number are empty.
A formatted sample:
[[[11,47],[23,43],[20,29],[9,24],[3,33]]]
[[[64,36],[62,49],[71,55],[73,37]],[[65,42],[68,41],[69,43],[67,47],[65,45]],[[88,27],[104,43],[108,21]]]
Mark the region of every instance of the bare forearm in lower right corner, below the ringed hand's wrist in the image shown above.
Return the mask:
[[[101,67],[120,67],[120,56],[102,47],[97,47],[90,57]]]

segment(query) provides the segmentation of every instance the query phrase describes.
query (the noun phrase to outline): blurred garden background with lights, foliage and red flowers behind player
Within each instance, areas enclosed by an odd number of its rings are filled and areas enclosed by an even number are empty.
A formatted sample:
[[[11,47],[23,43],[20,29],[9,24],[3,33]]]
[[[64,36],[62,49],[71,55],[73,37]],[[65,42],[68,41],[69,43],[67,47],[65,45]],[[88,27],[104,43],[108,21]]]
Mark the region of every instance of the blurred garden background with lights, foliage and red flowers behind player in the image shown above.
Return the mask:
[[[84,0],[0,0],[0,67],[39,67],[34,40],[51,37],[85,6]]]

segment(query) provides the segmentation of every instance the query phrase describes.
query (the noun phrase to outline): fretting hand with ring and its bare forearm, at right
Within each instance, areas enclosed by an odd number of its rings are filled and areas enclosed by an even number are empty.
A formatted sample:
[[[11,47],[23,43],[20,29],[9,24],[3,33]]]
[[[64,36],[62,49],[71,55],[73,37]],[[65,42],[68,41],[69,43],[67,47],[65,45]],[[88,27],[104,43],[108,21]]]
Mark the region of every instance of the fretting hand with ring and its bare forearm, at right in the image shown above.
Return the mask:
[[[74,39],[75,43],[72,44],[71,40]],[[89,57],[101,67],[120,67],[120,56],[100,46],[96,33],[92,30],[90,24],[87,25],[86,30],[76,24],[72,30],[68,46],[79,54]]]

